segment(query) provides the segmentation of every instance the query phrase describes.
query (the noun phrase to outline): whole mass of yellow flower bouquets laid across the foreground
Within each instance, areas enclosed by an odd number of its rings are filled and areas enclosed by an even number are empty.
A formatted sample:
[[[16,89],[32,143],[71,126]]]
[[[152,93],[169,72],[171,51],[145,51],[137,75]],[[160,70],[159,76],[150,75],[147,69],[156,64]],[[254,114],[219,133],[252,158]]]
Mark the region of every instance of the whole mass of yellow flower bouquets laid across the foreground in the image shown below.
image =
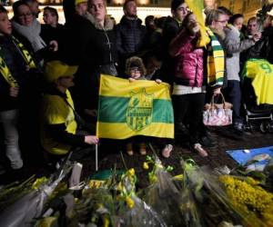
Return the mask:
[[[0,225],[273,226],[273,194],[266,191],[272,163],[262,181],[239,175],[243,172],[238,169],[228,175],[199,167],[191,159],[182,159],[181,165],[177,180],[168,173],[171,167],[164,167],[156,155],[147,156],[143,167],[150,169],[150,185],[136,192],[134,169],[101,171],[80,183],[81,164],[68,162],[49,178],[33,177],[1,190]]]

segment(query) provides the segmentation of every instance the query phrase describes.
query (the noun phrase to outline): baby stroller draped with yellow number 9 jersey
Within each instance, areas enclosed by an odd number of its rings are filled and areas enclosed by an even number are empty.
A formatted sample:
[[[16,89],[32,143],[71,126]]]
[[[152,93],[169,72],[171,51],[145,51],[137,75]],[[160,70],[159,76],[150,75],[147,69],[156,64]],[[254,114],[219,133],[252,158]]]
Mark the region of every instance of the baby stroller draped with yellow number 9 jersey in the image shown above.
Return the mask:
[[[273,80],[268,80],[268,74],[273,76],[273,65],[264,59],[248,60],[243,72],[242,100],[246,114],[245,130],[250,132],[259,130],[262,133],[273,133],[273,103],[270,97],[273,94]]]

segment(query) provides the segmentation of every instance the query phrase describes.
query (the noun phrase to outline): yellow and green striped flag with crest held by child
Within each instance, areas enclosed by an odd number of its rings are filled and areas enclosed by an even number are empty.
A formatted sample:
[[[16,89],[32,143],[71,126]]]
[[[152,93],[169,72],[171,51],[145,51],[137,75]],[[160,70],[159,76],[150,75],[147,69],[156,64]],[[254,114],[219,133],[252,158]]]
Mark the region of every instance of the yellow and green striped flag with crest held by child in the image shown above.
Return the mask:
[[[169,85],[101,74],[96,135],[126,139],[135,135],[174,138]]]

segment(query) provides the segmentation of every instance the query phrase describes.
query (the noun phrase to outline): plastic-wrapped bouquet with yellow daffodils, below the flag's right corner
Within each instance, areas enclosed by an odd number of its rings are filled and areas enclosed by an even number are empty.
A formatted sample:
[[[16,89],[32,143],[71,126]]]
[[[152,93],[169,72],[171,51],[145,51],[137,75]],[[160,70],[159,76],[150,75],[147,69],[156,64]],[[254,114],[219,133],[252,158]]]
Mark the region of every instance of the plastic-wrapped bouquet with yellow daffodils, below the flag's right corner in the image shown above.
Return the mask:
[[[159,158],[147,156],[144,163],[145,168],[153,166],[152,171],[148,173],[151,183],[139,196],[147,202],[167,223],[168,226],[176,226],[182,222],[182,215],[179,211],[179,185],[173,181],[169,171],[172,167],[165,168]]]

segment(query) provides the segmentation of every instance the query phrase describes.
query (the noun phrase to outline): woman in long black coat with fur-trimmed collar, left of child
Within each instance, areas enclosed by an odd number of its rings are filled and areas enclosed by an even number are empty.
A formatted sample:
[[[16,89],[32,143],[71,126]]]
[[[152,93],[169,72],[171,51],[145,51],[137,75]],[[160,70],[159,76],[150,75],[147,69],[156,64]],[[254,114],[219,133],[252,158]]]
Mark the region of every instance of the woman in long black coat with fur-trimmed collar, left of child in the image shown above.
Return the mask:
[[[80,62],[73,95],[79,113],[92,117],[97,109],[100,74],[117,75],[116,34],[104,0],[89,0],[85,18],[88,23],[78,31]]]

